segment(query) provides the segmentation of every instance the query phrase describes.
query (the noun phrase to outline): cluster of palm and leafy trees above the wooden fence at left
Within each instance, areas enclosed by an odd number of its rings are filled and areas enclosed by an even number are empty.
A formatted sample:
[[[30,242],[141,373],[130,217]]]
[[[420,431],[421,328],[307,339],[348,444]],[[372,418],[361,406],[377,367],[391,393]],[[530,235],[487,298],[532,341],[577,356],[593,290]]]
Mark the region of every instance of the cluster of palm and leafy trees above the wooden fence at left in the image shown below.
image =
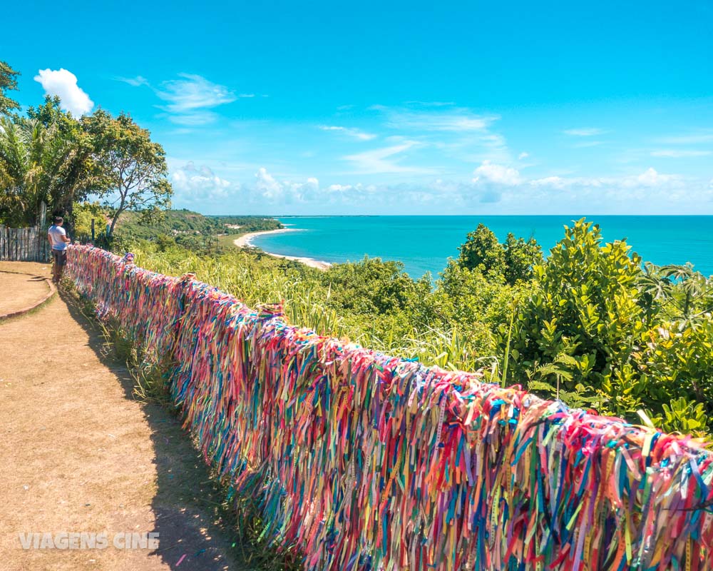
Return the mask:
[[[0,66],[0,94],[7,84],[3,73]],[[93,198],[110,221],[108,241],[125,211],[152,213],[170,205],[165,153],[148,131],[125,113],[113,118],[99,109],[74,118],[60,103],[46,97],[25,116],[9,113],[13,107],[6,103],[0,117],[0,223],[32,226],[44,204],[51,215],[64,216],[73,233],[75,205]]]

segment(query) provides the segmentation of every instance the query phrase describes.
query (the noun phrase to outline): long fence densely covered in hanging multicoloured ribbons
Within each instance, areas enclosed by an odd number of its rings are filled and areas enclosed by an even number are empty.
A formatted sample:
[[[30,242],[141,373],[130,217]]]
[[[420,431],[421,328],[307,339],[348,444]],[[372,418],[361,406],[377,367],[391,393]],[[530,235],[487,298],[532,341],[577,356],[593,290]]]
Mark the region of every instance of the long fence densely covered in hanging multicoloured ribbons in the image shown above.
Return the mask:
[[[70,248],[68,273],[170,380],[205,460],[305,570],[713,568],[713,457],[479,373],[288,325]]]

